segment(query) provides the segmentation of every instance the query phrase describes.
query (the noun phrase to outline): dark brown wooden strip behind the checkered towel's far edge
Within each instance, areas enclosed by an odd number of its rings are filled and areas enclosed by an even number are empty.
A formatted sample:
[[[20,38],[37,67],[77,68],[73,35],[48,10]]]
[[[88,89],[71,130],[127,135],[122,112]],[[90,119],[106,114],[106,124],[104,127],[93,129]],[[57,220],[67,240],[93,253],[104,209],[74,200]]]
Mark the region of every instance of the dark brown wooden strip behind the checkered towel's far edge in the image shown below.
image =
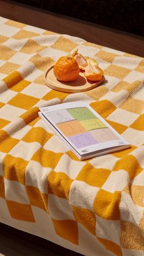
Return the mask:
[[[99,26],[68,16],[57,15],[13,1],[0,0],[0,15],[10,20],[40,27],[59,34],[81,37],[88,42],[144,57],[144,38]]]

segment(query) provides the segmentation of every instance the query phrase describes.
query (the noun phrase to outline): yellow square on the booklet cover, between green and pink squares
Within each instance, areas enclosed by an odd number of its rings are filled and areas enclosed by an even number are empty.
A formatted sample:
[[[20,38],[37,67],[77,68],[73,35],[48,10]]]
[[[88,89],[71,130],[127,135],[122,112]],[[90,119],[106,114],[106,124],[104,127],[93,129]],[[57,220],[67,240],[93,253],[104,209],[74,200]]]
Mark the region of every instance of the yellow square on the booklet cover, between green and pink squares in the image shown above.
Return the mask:
[[[87,130],[87,131],[107,127],[99,119],[89,119],[89,120],[84,120],[84,121],[79,121],[79,122],[81,123],[82,126],[84,126],[85,130]]]

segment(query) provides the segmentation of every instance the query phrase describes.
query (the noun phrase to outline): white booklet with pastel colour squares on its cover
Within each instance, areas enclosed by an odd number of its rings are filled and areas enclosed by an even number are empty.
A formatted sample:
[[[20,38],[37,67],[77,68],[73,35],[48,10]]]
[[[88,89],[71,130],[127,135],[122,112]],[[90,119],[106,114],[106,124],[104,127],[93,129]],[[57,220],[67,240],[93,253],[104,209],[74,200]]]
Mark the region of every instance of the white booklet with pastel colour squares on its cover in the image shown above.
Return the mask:
[[[80,160],[129,147],[117,131],[81,101],[40,108],[38,114]]]

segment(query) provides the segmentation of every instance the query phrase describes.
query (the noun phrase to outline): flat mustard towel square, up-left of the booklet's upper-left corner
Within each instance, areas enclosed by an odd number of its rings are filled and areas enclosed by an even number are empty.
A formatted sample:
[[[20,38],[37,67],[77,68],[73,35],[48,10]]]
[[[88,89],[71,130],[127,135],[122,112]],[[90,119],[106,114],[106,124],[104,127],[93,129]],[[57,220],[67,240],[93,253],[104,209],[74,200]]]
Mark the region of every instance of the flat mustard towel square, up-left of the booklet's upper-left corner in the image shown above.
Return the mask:
[[[34,98],[23,93],[18,93],[17,95],[15,95],[15,97],[12,98],[12,100],[8,102],[8,104],[27,110],[32,108],[32,106],[34,106],[38,102],[38,100],[38,98]]]

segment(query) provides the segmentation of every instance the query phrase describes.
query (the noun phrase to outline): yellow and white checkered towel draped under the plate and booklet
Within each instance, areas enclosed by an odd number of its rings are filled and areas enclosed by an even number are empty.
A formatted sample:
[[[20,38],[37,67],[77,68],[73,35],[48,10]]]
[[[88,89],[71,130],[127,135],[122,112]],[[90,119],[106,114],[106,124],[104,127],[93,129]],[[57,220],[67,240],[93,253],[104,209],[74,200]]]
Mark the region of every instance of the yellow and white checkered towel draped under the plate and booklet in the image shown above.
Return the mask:
[[[144,60],[81,38],[0,18],[0,221],[84,255],[144,255]],[[106,81],[49,89],[43,71],[74,49]],[[90,104],[131,148],[79,161],[38,108]]]

